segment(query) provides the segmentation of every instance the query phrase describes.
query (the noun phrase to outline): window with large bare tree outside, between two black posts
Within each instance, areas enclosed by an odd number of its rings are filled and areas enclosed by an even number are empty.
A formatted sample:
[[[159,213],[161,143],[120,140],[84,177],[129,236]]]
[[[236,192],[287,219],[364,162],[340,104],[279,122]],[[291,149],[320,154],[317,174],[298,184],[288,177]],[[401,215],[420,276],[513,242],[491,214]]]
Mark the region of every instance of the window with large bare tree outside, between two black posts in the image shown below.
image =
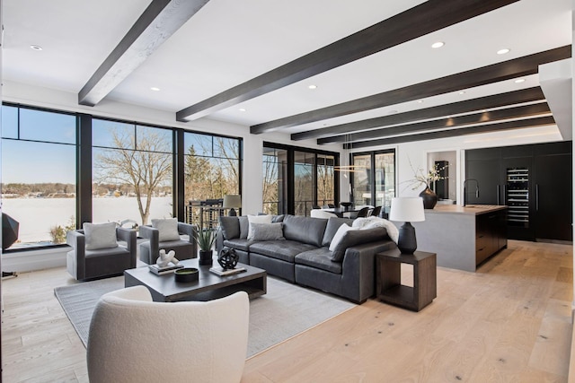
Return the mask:
[[[173,215],[173,131],[94,118],[93,222]]]

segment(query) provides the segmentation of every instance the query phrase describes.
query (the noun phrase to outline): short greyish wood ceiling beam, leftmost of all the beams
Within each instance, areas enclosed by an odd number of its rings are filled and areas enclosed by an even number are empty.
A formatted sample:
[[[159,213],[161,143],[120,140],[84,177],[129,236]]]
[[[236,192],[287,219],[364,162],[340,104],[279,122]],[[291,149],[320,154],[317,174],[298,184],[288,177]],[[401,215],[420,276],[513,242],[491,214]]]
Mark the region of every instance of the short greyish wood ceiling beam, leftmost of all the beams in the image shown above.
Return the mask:
[[[208,1],[153,0],[78,93],[78,103],[100,102]]]

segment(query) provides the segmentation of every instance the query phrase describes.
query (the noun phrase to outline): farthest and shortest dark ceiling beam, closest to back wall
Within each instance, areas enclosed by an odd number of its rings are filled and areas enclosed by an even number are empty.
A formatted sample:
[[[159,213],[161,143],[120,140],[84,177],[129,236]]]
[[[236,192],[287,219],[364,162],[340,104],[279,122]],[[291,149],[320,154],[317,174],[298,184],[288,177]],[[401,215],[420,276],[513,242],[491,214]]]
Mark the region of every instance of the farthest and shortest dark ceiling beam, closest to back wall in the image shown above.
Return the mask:
[[[545,126],[554,124],[555,120],[551,116],[540,117],[540,118],[529,118],[529,119],[520,119],[516,121],[501,122],[499,124],[441,130],[438,132],[422,133],[420,135],[400,135],[397,137],[384,138],[380,140],[361,141],[358,143],[343,144],[343,147],[345,149],[358,149],[358,148],[367,148],[371,146],[411,143],[413,141],[435,140],[438,138],[457,137],[460,135],[477,135],[481,133],[499,132],[502,130],[521,129],[525,127]]]

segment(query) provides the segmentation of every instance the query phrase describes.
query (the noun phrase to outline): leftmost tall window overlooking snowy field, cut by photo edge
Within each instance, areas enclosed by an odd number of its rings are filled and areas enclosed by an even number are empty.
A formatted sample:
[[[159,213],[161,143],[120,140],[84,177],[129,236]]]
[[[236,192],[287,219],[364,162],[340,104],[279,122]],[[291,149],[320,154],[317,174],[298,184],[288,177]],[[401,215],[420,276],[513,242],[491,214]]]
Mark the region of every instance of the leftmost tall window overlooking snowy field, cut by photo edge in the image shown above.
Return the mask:
[[[75,228],[75,115],[2,107],[3,213],[19,222],[11,249],[64,243]]]

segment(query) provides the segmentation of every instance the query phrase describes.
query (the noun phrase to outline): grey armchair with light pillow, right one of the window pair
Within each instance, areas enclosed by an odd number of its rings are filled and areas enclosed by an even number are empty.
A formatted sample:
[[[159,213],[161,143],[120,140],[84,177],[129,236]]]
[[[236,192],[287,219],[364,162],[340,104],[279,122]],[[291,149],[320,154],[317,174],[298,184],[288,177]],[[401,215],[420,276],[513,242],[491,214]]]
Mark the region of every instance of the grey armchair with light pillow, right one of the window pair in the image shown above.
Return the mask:
[[[148,265],[155,264],[161,248],[166,252],[175,251],[179,260],[198,257],[194,229],[195,225],[178,222],[175,218],[154,219],[151,226],[140,226],[140,237],[148,239],[140,244],[140,260]],[[187,235],[188,239],[181,239],[181,235]]]

